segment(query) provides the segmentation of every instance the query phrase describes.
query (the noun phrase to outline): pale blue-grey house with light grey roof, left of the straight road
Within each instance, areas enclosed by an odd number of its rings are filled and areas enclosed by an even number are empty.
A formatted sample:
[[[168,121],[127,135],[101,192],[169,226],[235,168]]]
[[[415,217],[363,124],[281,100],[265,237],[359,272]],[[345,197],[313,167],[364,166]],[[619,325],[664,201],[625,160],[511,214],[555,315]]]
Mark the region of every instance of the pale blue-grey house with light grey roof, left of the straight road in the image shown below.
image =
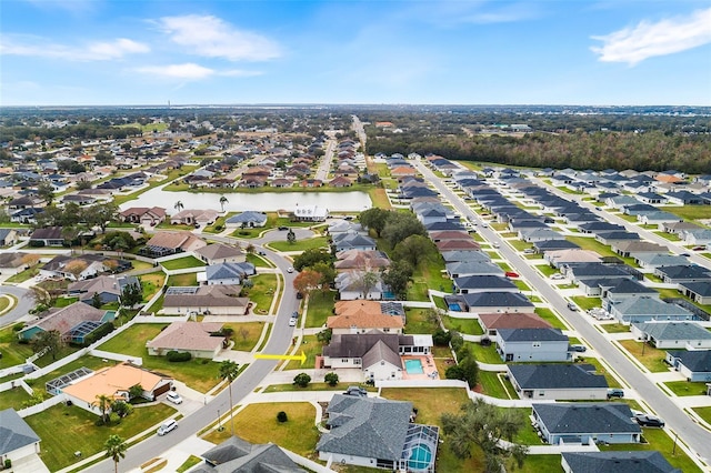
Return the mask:
[[[560,329],[499,329],[494,342],[507,363],[572,360],[569,339]]]

